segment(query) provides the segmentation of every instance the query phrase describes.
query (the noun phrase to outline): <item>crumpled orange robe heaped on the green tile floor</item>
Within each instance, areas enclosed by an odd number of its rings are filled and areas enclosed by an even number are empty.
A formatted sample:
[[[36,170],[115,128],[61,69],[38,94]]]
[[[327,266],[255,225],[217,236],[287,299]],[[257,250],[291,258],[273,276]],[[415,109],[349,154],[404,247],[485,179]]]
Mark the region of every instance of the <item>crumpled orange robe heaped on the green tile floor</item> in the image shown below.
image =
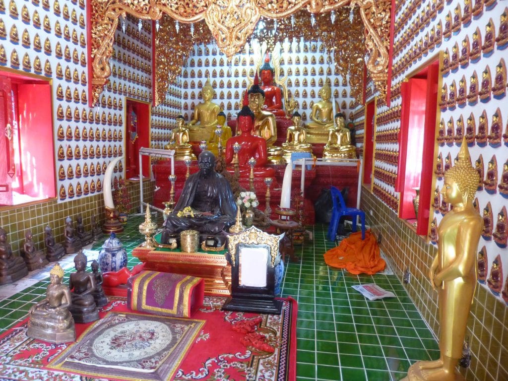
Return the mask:
[[[332,267],[346,269],[352,274],[375,274],[385,269],[386,263],[379,256],[379,246],[376,238],[370,232],[352,233],[344,238],[337,247],[325,252],[325,262]]]

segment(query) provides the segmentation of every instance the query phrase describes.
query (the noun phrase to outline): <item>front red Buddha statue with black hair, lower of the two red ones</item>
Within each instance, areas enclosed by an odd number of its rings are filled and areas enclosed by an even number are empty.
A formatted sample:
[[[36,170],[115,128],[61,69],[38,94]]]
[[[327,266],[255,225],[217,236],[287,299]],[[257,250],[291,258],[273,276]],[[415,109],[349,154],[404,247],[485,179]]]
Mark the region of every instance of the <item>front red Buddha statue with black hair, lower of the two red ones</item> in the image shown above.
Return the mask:
[[[238,143],[241,146],[238,152],[238,166],[242,175],[250,174],[248,161],[251,157],[254,157],[256,159],[255,175],[273,177],[275,175],[273,168],[263,168],[268,160],[266,140],[259,136],[252,135],[254,118],[254,113],[248,107],[248,95],[247,92],[245,92],[243,107],[238,113],[237,119],[240,135],[229,138],[226,143],[226,164],[230,164],[233,161],[235,156],[233,146],[235,143]]]

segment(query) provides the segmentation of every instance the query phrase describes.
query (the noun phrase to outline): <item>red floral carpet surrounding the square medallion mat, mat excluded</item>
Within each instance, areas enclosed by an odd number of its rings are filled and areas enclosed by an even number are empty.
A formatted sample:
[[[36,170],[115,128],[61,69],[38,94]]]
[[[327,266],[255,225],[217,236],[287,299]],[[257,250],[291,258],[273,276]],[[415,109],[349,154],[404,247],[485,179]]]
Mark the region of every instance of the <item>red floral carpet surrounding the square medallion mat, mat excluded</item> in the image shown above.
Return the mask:
[[[224,297],[205,297],[203,307],[193,314],[191,320],[204,321],[197,336],[186,347],[179,365],[175,365],[171,376],[162,375],[161,381],[169,380],[288,380],[296,379],[296,318],[297,304],[293,299],[284,299],[281,315],[260,315],[220,311]],[[101,319],[110,312],[129,311],[126,302],[115,300],[103,307]],[[143,315],[143,314],[140,314]],[[153,316],[153,315],[146,315]],[[171,319],[161,317],[160,319]],[[256,334],[234,330],[238,322],[256,322]],[[259,323],[260,322],[260,323]],[[76,337],[92,325],[76,324]],[[251,326],[253,324],[250,324]],[[244,324],[243,326],[249,326]],[[252,346],[256,339],[261,349]],[[77,344],[76,344],[77,345]],[[61,371],[50,363],[65,359],[72,352],[73,343],[50,344],[26,337],[26,321],[10,329],[0,338],[0,378],[9,380],[45,381],[95,381],[95,380],[153,380],[153,374],[137,373],[124,376],[118,372],[105,374],[104,368],[92,372]],[[65,353],[64,353],[65,351]],[[273,352],[272,352],[273,351]],[[169,377],[169,378],[164,378]]]

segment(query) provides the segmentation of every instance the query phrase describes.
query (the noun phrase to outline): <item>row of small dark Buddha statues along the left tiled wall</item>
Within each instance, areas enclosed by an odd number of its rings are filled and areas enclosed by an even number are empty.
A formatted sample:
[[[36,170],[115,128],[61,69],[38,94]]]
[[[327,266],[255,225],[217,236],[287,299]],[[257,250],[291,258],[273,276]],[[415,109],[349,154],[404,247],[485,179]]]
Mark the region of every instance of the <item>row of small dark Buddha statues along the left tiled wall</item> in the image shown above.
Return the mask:
[[[0,227],[0,284],[15,282],[27,275],[28,271],[40,269],[48,262],[58,261],[66,254],[76,253],[83,246],[104,237],[101,224],[97,216],[94,215],[92,216],[91,231],[86,231],[80,215],[76,217],[76,227],[74,227],[72,219],[67,217],[63,244],[55,242],[49,226],[44,229],[44,235],[46,252],[37,249],[31,230],[26,230],[20,256],[16,256],[7,239],[6,230]]]

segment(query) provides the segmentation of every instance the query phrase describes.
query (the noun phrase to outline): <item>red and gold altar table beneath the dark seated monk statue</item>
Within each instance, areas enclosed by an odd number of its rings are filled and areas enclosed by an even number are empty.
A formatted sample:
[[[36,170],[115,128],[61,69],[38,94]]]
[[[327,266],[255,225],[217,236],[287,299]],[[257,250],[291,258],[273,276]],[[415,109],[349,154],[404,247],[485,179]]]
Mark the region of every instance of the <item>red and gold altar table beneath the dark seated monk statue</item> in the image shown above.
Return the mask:
[[[136,247],[132,255],[145,263],[144,270],[192,275],[205,280],[205,294],[231,295],[231,265],[227,250],[183,252],[180,249]]]

